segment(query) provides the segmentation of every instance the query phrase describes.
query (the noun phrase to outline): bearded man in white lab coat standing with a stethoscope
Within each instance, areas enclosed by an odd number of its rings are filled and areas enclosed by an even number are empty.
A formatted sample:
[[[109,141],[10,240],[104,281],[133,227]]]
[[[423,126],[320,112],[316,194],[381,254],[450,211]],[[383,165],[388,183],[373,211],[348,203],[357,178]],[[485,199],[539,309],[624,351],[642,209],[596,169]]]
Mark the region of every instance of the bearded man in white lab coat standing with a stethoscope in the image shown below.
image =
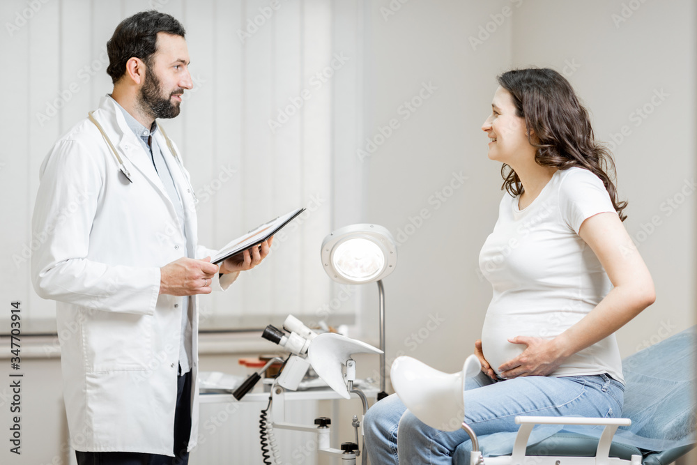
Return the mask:
[[[77,462],[183,465],[197,442],[197,296],[227,289],[270,244],[220,266],[197,244],[194,189],[157,121],[192,89],[182,24],[137,13],[107,52],[114,90],[40,168],[32,282],[56,300]]]

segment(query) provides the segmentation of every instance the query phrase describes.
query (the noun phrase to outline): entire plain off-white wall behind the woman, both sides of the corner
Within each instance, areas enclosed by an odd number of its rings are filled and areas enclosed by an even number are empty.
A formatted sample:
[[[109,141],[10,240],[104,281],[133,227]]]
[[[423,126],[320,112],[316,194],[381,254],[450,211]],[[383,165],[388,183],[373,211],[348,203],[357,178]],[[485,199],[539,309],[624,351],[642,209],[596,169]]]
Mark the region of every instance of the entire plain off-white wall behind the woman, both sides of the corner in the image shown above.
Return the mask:
[[[631,130],[614,151],[618,186],[657,302],[618,333],[622,356],[694,324],[696,196],[680,190],[696,171],[696,8],[689,0],[629,2],[641,6],[615,27],[612,15],[621,17],[625,3],[409,1],[386,15],[383,8],[397,2],[374,2],[369,129],[397,117],[422,82],[438,86],[367,161],[369,220],[399,234],[422,208],[430,215],[408,230],[397,270],[385,279],[388,360],[406,353],[454,371],[480,336],[491,287],[475,272],[477,255],[503,195],[480,126],[496,75],[512,67],[565,73],[592,113],[597,139],[612,142],[623,125]],[[668,96],[649,108],[661,89]],[[632,112],[645,104],[652,113],[639,124]],[[453,171],[468,180],[436,210],[429,198],[447,190]],[[677,208],[665,203],[673,197],[682,201]],[[370,314],[375,297],[368,298]],[[431,316],[439,326],[429,328]]]

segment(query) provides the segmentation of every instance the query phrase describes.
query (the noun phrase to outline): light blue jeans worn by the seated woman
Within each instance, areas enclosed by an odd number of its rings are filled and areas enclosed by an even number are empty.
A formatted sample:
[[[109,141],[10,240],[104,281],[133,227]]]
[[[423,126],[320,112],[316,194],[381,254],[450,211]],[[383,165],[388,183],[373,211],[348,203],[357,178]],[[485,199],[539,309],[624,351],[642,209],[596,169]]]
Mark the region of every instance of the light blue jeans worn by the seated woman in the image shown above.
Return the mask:
[[[465,418],[477,436],[516,432],[516,416],[615,417],[622,415],[624,386],[606,374],[523,376],[493,382],[483,373],[465,383]],[[371,463],[448,464],[463,429],[442,432],[420,422],[397,395],[372,406],[363,422]]]

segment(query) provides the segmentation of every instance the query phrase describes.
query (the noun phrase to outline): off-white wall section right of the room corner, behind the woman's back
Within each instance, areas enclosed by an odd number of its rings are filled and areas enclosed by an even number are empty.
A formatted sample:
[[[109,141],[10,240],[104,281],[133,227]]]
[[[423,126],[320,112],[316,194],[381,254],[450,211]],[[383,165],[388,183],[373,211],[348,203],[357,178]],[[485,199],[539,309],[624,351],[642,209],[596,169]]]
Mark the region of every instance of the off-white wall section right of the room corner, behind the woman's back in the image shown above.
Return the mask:
[[[565,65],[569,80],[592,112],[596,137],[616,146],[620,196],[629,201],[625,227],[657,291],[656,303],[618,333],[627,356],[695,322],[697,7],[634,2],[641,7],[625,10],[623,21],[622,3],[631,2],[521,7],[513,64],[573,63]]]

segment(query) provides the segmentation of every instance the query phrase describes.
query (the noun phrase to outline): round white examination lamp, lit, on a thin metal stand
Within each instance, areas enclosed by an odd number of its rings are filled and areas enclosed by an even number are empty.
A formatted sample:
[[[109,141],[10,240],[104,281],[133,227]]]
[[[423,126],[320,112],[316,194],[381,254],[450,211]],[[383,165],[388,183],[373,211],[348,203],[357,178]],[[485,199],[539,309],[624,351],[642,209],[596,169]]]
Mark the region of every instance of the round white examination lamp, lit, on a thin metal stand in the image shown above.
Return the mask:
[[[342,284],[378,283],[380,299],[380,393],[385,392],[385,290],[383,277],[397,265],[397,245],[388,229],[378,224],[351,224],[322,241],[322,264],[329,277]]]

